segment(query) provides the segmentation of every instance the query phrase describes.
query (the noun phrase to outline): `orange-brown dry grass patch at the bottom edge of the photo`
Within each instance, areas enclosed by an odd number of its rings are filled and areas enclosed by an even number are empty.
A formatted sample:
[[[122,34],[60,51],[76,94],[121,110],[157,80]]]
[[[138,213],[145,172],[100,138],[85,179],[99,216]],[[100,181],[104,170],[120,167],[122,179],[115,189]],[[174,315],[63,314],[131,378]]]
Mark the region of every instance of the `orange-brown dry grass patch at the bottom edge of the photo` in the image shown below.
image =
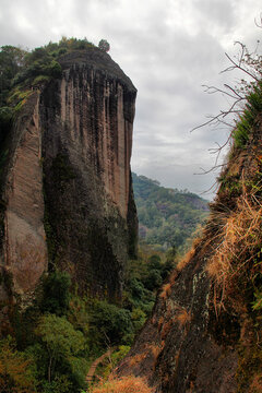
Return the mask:
[[[145,380],[139,377],[111,378],[100,382],[92,389],[91,393],[153,393]]]

